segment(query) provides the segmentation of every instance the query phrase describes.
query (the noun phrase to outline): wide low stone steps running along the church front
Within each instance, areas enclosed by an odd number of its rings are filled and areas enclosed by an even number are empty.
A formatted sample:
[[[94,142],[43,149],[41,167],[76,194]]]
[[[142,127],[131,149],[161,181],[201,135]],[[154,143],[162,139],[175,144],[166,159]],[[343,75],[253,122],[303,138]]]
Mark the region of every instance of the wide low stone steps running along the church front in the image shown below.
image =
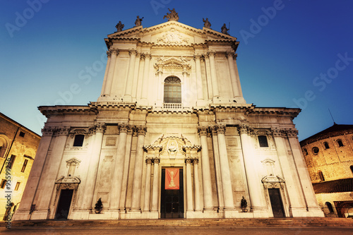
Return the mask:
[[[1,227],[6,226],[1,222]],[[353,219],[328,217],[264,219],[117,219],[117,220],[30,220],[11,222],[23,227],[119,227],[119,228],[205,228],[205,227],[353,227]]]

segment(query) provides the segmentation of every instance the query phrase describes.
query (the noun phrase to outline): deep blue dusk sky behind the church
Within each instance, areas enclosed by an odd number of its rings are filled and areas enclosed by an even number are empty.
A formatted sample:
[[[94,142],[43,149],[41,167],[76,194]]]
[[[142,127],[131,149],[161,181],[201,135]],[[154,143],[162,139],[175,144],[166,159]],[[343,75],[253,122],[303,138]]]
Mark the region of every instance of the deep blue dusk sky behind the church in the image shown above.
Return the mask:
[[[41,4],[39,5],[38,2]],[[44,2],[44,3],[42,3]],[[32,4],[31,4],[32,3]],[[32,5],[32,6],[30,6]],[[239,76],[246,102],[257,107],[300,107],[299,140],[336,123],[353,124],[353,1],[0,1],[0,112],[36,133],[40,105],[85,105],[100,95],[104,37],[121,20],[132,28],[179,22],[213,30],[230,24],[237,37]],[[34,10],[33,10],[34,9]],[[23,20],[24,19],[24,20]],[[96,65],[89,82],[79,74]],[[98,67],[97,67],[98,66]],[[325,76],[327,75],[327,76]]]

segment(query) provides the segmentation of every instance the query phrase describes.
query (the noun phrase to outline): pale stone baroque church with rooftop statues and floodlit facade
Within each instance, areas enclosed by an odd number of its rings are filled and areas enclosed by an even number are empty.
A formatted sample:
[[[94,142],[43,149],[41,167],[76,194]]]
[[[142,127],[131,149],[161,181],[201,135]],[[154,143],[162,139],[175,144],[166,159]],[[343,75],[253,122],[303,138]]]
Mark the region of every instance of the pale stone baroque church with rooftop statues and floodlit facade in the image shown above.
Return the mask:
[[[97,102],[39,107],[47,122],[15,219],[323,216],[300,109],[246,103],[237,38],[204,26],[116,25]]]

